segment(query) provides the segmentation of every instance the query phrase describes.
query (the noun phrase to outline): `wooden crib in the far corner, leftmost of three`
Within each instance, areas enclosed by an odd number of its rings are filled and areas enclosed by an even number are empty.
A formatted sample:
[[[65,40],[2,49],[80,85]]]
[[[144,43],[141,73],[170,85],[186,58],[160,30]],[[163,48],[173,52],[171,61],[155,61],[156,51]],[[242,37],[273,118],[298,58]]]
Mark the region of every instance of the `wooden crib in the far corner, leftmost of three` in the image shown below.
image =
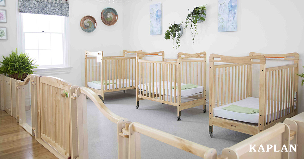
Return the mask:
[[[126,57],[128,54],[134,57]],[[136,51],[127,50],[123,50],[123,56],[107,57],[102,51],[85,51],[85,87],[100,95],[103,102],[106,92],[135,89],[135,56]],[[101,85],[92,81],[101,81]]]

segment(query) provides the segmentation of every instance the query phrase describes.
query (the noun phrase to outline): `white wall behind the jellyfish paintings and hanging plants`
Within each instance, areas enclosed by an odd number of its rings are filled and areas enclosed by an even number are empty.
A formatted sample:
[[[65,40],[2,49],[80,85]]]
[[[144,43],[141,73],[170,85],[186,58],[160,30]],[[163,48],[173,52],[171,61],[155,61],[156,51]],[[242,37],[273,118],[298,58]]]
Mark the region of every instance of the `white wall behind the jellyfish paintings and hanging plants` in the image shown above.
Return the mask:
[[[172,40],[165,40],[164,34],[150,35],[149,5],[162,3],[163,33],[169,23],[183,21],[188,9],[207,4],[206,22],[198,24],[198,36],[192,43],[190,32],[181,37],[181,47],[173,49]],[[304,1],[238,1],[237,32],[218,32],[216,0],[152,0],[127,4],[123,8],[123,48],[128,50],[142,49],[146,52],[165,51],[166,58],[177,58],[178,52],[228,56],[247,56],[249,52],[268,54],[298,52],[300,54],[300,72],[304,65]],[[184,26],[184,25],[183,25]],[[207,59],[209,61],[209,58]],[[207,67],[209,62],[207,63]],[[207,96],[209,96],[209,70],[207,71]],[[256,88],[253,86],[253,88]],[[299,103],[303,103],[304,94],[299,80]],[[208,98],[207,98],[208,100]],[[299,112],[304,111],[298,104]]]

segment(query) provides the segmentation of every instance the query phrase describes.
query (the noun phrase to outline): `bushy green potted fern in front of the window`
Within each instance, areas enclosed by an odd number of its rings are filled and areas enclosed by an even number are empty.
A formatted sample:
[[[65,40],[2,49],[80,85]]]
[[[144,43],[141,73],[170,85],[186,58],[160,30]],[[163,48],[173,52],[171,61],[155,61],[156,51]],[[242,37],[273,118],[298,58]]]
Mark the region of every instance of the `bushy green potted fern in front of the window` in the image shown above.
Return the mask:
[[[28,74],[33,74],[32,69],[37,68],[38,65],[34,65],[33,59],[29,58],[29,55],[18,54],[12,51],[8,57],[2,56],[3,60],[0,62],[0,74],[8,75],[10,78],[16,80],[24,80]]]

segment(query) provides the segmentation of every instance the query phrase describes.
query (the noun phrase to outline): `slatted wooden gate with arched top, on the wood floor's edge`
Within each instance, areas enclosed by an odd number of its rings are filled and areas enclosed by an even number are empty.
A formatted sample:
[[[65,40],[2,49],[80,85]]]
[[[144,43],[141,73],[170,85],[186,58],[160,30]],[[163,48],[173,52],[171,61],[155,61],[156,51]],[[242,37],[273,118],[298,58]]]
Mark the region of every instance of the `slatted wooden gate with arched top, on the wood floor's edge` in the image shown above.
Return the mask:
[[[36,140],[58,158],[67,158],[71,154],[69,119],[71,85],[67,81],[47,76],[36,76],[34,83],[37,85]]]

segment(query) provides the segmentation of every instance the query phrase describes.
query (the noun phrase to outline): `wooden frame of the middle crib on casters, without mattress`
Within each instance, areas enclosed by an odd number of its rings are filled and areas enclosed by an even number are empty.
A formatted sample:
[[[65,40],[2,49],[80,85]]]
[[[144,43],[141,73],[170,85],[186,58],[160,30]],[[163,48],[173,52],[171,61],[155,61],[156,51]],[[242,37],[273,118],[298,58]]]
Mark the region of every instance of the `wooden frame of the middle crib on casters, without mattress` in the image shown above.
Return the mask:
[[[162,60],[157,61],[157,60],[143,60],[142,59],[143,57],[149,57],[151,55],[152,56],[161,56]],[[196,59],[192,59],[192,58],[203,58],[203,60],[196,60]],[[184,62],[186,62],[185,68],[184,68]],[[188,67],[187,67],[188,62],[189,62],[189,72],[188,72]],[[199,67],[199,63],[200,63],[200,67]],[[153,67],[151,67],[151,64],[153,64]],[[155,65],[155,67],[154,67],[154,65]],[[157,68],[158,65],[159,65],[159,69]],[[149,66],[149,70],[148,70],[148,66]],[[192,67],[192,70],[191,70],[191,67]],[[195,67],[196,67],[196,71],[195,71]],[[152,72],[151,72],[151,69],[152,69]],[[184,74],[184,69],[185,69],[185,74]],[[161,73],[157,74],[158,70]],[[144,73],[144,72],[146,72],[146,73]],[[199,76],[199,72],[200,72],[200,76]],[[187,77],[188,73],[190,74],[188,76],[189,81],[188,81],[188,77]],[[155,76],[154,76],[154,74],[155,74]],[[193,77],[191,76],[191,74],[193,75]],[[185,80],[184,80],[184,75],[186,76]],[[159,77],[159,81],[163,81],[163,85],[165,85],[165,82],[167,82],[167,85],[168,85],[168,81],[171,83],[174,82],[174,85],[177,83],[178,88],[176,88],[176,85],[174,87],[174,97],[175,97],[174,101],[172,99],[172,95],[173,95],[172,89],[170,89],[171,90],[170,98],[168,97],[169,95],[161,95],[161,90],[160,90],[160,93],[154,93],[154,81],[157,83],[158,77]],[[181,77],[183,77],[183,78],[181,78]],[[195,77],[196,77],[196,81],[195,81]],[[193,84],[199,85],[199,80],[200,80],[200,85],[203,85],[203,87],[204,87],[203,95],[202,94],[192,95],[189,98],[192,98],[195,100],[181,103],[181,83],[182,82],[188,83],[188,82],[192,81]],[[141,88],[141,85],[144,83],[146,83],[147,91],[144,91],[144,88]],[[153,86],[152,86],[153,93],[148,91],[147,83],[153,83]],[[197,53],[197,54],[186,54],[186,53],[180,52],[180,53],[178,53],[177,59],[165,59],[164,51],[160,51],[160,52],[156,52],[156,53],[137,52],[136,86],[138,86],[138,85],[140,85],[140,88],[136,87],[136,102],[137,102],[136,109],[139,108],[140,100],[148,99],[148,100],[155,101],[155,102],[160,102],[160,103],[177,106],[177,108],[178,108],[177,120],[180,120],[180,118],[181,118],[181,110],[192,108],[195,106],[203,105],[204,106],[203,113],[205,113],[206,112],[206,52],[201,52],[201,53]],[[158,92],[157,85],[156,85],[156,89]],[[160,88],[160,89],[163,89],[163,92],[165,92],[164,87]],[[177,98],[175,95],[176,90],[178,90]],[[169,92],[168,87],[167,87],[166,91]],[[167,94],[169,94],[169,93],[167,93]],[[165,98],[165,96],[167,96],[167,98]]]

